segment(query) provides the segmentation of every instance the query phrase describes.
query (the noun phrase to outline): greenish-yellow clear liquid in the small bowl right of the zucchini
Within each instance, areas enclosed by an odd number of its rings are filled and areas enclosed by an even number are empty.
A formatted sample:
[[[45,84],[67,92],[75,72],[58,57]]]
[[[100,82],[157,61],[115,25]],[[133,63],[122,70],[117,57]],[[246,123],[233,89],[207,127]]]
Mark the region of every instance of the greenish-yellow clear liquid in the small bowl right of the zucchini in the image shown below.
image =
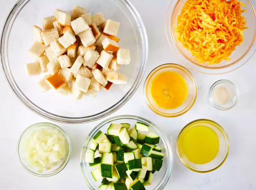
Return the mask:
[[[215,131],[206,126],[196,126],[184,131],[178,140],[179,151],[195,164],[213,160],[219,151],[219,138]]]

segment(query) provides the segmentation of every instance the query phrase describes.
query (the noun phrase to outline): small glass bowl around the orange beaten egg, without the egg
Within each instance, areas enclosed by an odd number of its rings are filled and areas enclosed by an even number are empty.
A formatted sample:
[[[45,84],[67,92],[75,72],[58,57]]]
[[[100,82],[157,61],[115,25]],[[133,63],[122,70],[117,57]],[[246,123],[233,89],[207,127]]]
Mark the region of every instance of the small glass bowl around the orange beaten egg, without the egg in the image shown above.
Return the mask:
[[[188,97],[185,100],[185,102],[178,108],[175,108],[175,109],[161,108],[154,102],[150,94],[150,88],[154,78],[163,71],[175,71],[181,74],[181,76],[185,79],[188,85]],[[144,83],[144,96],[145,96],[147,105],[150,107],[151,110],[153,110],[153,112],[163,117],[178,117],[186,113],[190,108],[192,108],[192,106],[196,101],[196,96],[197,96],[196,80],[193,77],[192,73],[181,65],[177,65],[174,63],[163,64],[156,67],[150,72],[150,74],[148,74],[147,79]]]

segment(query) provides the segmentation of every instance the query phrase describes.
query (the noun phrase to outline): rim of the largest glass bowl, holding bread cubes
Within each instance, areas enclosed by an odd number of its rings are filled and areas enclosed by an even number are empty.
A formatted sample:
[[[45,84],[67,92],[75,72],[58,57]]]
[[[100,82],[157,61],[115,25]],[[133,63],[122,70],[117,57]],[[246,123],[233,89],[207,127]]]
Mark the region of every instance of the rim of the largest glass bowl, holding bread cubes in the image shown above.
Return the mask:
[[[102,119],[114,113],[118,109],[120,109],[138,89],[143,79],[143,75],[145,73],[147,60],[148,60],[148,38],[147,38],[146,27],[137,9],[130,3],[129,0],[118,0],[122,4],[124,4],[125,7],[129,9],[129,11],[133,15],[133,18],[136,20],[136,26],[140,31],[140,39],[141,39],[140,43],[142,44],[142,60],[140,62],[138,74],[136,74],[137,75],[136,80],[131,85],[131,88],[127,93],[124,94],[124,96],[121,98],[120,101],[116,102],[114,105],[110,106],[109,108],[99,113],[96,113],[94,115],[84,116],[84,117],[66,117],[66,116],[59,116],[54,113],[50,113],[44,109],[41,109],[39,106],[35,105],[32,101],[30,101],[25,96],[25,94],[23,94],[23,92],[19,89],[19,86],[16,84],[14,77],[12,76],[12,73],[10,71],[9,61],[8,61],[8,39],[12,29],[12,24],[15,22],[19,12],[23,9],[23,7],[29,1],[31,0],[19,0],[14,4],[14,6],[12,7],[10,13],[8,14],[4,22],[3,30],[1,32],[0,61],[3,69],[4,77],[8,85],[10,86],[12,92],[15,94],[15,96],[23,103],[23,105],[25,105],[27,108],[29,108],[31,111],[33,111],[37,115],[52,121],[59,122],[59,123],[69,123],[69,124],[88,123],[91,121]],[[114,0],[111,0],[111,1],[114,1]]]

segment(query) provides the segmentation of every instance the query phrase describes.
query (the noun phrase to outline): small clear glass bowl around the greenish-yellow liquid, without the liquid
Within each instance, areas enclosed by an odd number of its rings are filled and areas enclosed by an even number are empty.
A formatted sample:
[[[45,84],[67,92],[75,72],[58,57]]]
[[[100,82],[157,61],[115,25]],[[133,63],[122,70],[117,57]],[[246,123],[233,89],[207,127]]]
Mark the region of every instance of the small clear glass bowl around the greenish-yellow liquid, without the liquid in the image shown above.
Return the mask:
[[[198,125],[203,125],[211,128],[217,133],[219,137],[219,152],[217,156],[213,160],[211,160],[211,162],[208,162],[205,164],[195,164],[190,162],[186,158],[186,156],[183,154],[181,147],[179,146],[179,143],[178,143],[182,133]],[[219,125],[215,121],[212,121],[209,119],[198,119],[190,122],[181,130],[177,138],[176,150],[177,150],[178,157],[180,158],[180,161],[184,164],[184,166],[189,168],[189,170],[199,172],[199,173],[211,172],[219,168],[225,162],[227,155],[229,154],[229,138],[225,130],[221,127],[221,125]]]

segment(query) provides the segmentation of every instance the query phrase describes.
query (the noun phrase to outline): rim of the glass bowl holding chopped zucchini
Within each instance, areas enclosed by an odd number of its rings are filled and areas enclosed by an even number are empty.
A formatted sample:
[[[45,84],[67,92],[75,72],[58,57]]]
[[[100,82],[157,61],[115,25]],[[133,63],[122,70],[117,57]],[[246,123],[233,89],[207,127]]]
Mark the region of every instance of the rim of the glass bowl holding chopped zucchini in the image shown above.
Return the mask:
[[[84,141],[84,144],[83,144],[83,147],[82,147],[82,150],[81,150],[81,153],[80,153],[80,168],[81,168],[81,172],[82,172],[82,175],[83,175],[83,178],[84,178],[84,181],[86,182],[86,185],[91,188],[91,185],[90,183],[92,183],[90,181],[90,179],[87,179],[86,178],[86,175],[85,175],[85,167],[84,166],[86,163],[84,162],[83,158],[84,158],[84,154],[85,154],[85,150],[91,140],[91,137],[92,135],[98,131],[101,127],[103,127],[103,125],[109,123],[109,122],[113,122],[113,121],[116,121],[116,120],[120,120],[120,119],[132,119],[132,120],[141,120],[141,121],[146,121],[147,123],[149,123],[154,129],[156,129],[158,132],[159,132],[159,136],[161,137],[162,141],[163,141],[163,144],[165,144],[165,146],[167,147],[167,150],[166,150],[166,153],[167,154],[167,170],[166,170],[166,173],[165,173],[165,176],[163,177],[164,180],[160,183],[160,187],[156,190],[162,190],[167,182],[169,181],[169,178],[172,174],[172,170],[173,170],[173,151],[172,151],[172,147],[170,145],[170,142],[168,140],[168,138],[166,137],[166,135],[164,133],[161,132],[160,128],[157,127],[157,125],[155,125],[154,123],[152,123],[151,121],[147,120],[147,119],[144,119],[143,117],[140,117],[140,116],[134,116],[134,115],[119,115],[119,116],[114,116],[114,117],[110,117],[104,121],[102,121],[101,123],[99,123],[96,127],[94,127],[90,133],[88,134],[88,136],[86,137],[86,140]]]

